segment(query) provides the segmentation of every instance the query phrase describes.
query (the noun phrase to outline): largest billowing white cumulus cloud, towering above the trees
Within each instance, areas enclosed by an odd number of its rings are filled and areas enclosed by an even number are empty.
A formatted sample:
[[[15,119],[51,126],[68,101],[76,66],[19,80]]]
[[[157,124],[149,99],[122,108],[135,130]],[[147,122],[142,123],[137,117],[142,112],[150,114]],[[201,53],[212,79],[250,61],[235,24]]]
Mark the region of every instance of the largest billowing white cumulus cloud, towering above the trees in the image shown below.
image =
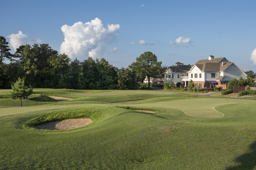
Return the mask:
[[[119,30],[119,24],[103,27],[99,18],[91,22],[76,22],[72,26],[64,25],[61,31],[65,38],[60,52],[66,53],[70,58],[102,57],[105,46],[116,40]]]

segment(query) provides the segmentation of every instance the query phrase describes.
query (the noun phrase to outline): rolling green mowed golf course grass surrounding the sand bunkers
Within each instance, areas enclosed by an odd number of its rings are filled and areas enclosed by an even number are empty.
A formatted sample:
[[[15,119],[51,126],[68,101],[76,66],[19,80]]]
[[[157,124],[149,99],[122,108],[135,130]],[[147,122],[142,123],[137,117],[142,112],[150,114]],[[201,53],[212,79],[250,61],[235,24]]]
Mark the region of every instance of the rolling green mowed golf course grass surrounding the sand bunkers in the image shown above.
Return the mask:
[[[62,91],[75,100],[0,108],[0,169],[256,169],[255,100],[145,90]],[[135,95],[149,98],[111,103]],[[32,128],[76,117],[93,122],[62,131]]]

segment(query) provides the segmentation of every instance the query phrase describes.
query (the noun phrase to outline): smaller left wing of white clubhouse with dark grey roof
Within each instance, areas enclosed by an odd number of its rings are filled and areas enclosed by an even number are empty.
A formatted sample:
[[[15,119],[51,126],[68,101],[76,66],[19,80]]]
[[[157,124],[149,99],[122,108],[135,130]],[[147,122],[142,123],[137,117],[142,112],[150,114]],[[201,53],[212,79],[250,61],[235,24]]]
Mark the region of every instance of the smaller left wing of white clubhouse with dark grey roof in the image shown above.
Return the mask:
[[[186,87],[188,82],[184,81],[184,77],[188,79],[187,71],[189,71],[191,67],[191,65],[181,65],[167,68],[164,81],[173,81],[176,87]]]

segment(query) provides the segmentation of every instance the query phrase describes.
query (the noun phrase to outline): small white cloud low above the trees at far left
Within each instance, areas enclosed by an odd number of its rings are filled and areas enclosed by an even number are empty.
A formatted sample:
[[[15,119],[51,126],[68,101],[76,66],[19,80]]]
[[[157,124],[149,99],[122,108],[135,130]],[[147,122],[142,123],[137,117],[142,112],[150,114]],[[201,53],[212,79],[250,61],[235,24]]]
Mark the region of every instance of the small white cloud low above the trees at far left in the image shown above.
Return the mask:
[[[21,45],[26,45],[26,44],[34,44],[36,42],[42,42],[39,38],[37,39],[30,39],[28,40],[28,35],[23,34],[21,31],[19,31],[17,34],[11,34],[8,35],[7,38],[10,38],[10,46],[16,50],[19,48]]]

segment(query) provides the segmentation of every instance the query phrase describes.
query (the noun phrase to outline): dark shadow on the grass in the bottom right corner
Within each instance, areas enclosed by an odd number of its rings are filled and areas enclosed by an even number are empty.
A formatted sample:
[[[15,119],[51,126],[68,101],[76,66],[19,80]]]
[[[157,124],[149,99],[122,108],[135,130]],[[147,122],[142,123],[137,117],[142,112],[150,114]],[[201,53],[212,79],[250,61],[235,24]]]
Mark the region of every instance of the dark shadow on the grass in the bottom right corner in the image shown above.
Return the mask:
[[[252,170],[256,167],[256,141],[250,144],[247,154],[240,155],[234,161],[239,163],[237,166],[226,168],[225,170]]]

